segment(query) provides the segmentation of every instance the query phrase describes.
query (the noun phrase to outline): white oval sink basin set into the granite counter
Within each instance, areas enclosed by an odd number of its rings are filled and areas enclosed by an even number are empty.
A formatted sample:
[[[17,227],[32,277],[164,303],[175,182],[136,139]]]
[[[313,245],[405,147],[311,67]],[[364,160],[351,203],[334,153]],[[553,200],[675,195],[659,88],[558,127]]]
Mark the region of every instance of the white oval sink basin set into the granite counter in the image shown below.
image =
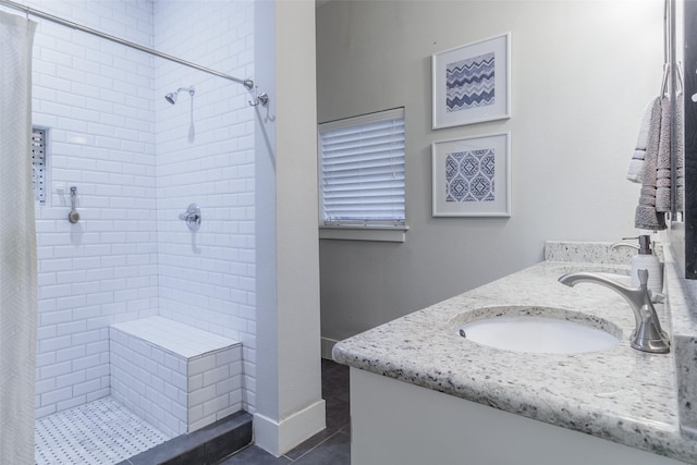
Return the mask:
[[[466,315],[466,314],[465,314]],[[496,307],[474,311],[457,333],[491,347],[525,353],[578,354],[613,347],[621,330],[577,311],[540,307]]]

